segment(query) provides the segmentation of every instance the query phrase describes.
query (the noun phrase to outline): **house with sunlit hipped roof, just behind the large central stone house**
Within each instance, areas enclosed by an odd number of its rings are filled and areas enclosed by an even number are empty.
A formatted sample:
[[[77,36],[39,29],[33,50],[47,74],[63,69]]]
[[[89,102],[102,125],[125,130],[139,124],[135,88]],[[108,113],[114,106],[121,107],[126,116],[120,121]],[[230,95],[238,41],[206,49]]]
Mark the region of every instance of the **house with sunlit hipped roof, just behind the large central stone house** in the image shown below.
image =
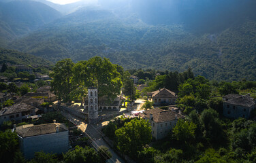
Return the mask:
[[[166,88],[149,92],[147,95],[148,101],[153,101],[154,105],[174,105],[177,100],[176,94]]]

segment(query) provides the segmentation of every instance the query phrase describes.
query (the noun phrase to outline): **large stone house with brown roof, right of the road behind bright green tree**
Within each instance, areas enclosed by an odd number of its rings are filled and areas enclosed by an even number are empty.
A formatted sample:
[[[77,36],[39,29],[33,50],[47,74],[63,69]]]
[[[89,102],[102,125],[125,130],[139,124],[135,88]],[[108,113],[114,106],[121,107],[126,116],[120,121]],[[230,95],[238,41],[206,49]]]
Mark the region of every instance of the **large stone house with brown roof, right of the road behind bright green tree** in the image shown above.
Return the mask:
[[[156,140],[163,139],[169,136],[172,128],[178,120],[185,119],[185,116],[180,115],[172,110],[163,110],[159,108],[150,109],[140,114],[144,120],[148,120],[152,129],[152,137]]]

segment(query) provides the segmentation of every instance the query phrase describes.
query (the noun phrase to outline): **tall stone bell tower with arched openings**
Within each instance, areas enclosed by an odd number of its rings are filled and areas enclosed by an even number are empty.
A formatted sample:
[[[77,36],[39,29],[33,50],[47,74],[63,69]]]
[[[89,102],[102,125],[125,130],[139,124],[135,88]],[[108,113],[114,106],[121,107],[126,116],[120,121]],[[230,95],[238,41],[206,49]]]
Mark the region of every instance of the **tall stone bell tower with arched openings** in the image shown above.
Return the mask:
[[[95,87],[88,88],[88,113],[89,123],[95,124],[98,121],[98,89]]]

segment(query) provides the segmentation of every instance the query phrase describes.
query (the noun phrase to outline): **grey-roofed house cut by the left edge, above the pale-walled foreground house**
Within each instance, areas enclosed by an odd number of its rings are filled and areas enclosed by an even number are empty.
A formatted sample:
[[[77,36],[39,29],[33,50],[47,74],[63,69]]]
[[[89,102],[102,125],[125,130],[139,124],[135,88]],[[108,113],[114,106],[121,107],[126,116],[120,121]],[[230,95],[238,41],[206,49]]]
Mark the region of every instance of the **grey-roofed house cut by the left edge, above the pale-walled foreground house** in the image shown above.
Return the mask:
[[[14,104],[10,107],[5,107],[0,111],[0,124],[5,121],[22,122],[29,118],[31,115],[35,115],[39,109],[25,103]]]

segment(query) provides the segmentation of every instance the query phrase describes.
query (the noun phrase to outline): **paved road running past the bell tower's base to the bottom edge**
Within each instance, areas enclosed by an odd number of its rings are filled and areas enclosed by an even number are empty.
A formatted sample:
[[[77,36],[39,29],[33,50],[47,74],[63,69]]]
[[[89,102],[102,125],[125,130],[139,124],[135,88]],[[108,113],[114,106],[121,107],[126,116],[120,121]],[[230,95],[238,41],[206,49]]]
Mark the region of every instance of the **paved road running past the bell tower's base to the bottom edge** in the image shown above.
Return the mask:
[[[101,138],[101,127],[102,125],[104,125],[103,123],[106,124],[106,122],[103,122],[102,124],[86,124],[84,122],[82,122],[82,120],[77,119],[76,117],[73,117],[72,115],[70,115],[69,113],[62,111],[61,112],[65,117],[67,117],[67,119],[70,122],[73,122],[74,124],[76,124],[76,126],[78,126],[78,128],[80,128],[80,130],[82,130],[82,132],[84,132],[86,134],[86,136],[88,136],[90,139],[90,141],[92,142],[93,147],[95,147],[97,149],[97,147],[99,147],[100,145],[104,145],[106,147],[109,148],[110,152],[112,153],[112,158],[110,158],[108,160],[108,162],[110,163],[119,163],[119,162],[125,162],[125,160],[123,160],[123,158],[119,157],[118,154],[113,151],[108,144]]]

